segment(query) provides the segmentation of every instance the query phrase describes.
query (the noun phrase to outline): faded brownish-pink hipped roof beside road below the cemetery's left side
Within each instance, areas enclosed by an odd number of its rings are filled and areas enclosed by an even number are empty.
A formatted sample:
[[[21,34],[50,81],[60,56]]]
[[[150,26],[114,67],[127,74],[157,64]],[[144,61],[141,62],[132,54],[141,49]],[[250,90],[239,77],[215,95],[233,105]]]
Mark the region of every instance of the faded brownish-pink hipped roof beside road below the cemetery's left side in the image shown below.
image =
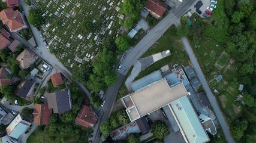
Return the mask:
[[[29,49],[24,49],[17,57],[16,60],[19,61],[20,67],[22,69],[28,68],[35,60],[37,60],[37,55],[30,51]]]

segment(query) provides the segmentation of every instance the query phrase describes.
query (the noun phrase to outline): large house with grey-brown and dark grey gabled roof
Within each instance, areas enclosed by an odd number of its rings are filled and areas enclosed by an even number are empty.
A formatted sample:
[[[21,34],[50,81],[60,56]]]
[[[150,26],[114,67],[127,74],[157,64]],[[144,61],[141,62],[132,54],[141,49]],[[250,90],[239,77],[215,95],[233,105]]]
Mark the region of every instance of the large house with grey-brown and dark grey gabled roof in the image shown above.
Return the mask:
[[[47,102],[49,109],[53,109],[53,113],[62,114],[70,111],[72,107],[70,90],[47,94]]]

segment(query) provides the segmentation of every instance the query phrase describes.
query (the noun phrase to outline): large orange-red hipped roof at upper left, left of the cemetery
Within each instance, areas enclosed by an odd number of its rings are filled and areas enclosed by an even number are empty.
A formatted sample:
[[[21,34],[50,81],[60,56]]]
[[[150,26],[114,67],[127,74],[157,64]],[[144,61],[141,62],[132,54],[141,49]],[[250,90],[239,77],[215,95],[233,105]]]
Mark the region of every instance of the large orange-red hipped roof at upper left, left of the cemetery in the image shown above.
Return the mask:
[[[2,23],[8,24],[11,31],[19,29],[22,26],[25,26],[22,16],[19,11],[14,11],[13,8],[7,8],[0,12],[0,18]]]

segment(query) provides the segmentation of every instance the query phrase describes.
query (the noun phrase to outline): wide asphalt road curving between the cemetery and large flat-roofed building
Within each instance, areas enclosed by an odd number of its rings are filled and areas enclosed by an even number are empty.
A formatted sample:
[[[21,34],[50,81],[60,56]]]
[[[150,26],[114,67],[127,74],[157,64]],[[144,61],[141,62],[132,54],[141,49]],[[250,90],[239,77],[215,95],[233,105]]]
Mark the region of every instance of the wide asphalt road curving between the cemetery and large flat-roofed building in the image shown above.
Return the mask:
[[[112,108],[115,104],[116,95],[118,93],[118,89],[121,86],[122,80],[125,75],[128,73],[131,66],[135,63],[135,61],[140,58],[140,56],[150,48],[153,43],[155,43],[161,35],[173,24],[179,23],[179,18],[182,14],[186,13],[191,6],[194,7],[195,0],[185,0],[179,7],[173,8],[170,13],[166,17],[164,17],[153,29],[141,39],[140,42],[137,43],[133,48],[131,48],[127,52],[127,56],[122,60],[122,69],[118,74],[118,82],[109,87],[106,91],[105,105],[100,111],[100,119],[98,124],[95,126],[94,137],[92,138],[93,142],[100,142],[100,138],[97,136],[99,131],[99,126],[104,123],[105,120],[109,119]]]

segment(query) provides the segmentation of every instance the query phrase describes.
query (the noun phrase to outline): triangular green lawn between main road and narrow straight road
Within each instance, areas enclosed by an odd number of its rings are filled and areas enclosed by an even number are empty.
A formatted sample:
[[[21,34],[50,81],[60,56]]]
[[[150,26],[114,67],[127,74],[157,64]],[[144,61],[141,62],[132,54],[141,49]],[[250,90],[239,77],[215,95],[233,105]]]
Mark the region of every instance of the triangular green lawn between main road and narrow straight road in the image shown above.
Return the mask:
[[[156,63],[153,63],[151,66],[147,67],[143,71],[140,71],[140,73],[134,80],[140,79],[141,77],[144,77],[155,70],[159,70],[162,66],[165,66],[166,64],[179,64],[183,66],[188,65],[188,55],[183,50],[184,47],[180,42],[180,39],[176,37],[175,30],[176,28],[174,26],[171,26],[164,33],[164,35],[160,39],[158,39],[158,41],[156,41],[156,43],[153,44],[151,48],[148,49],[141,57],[147,57],[152,54],[165,51],[167,49],[171,51],[171,55],[163,58],[162,60],[156,61]]]

